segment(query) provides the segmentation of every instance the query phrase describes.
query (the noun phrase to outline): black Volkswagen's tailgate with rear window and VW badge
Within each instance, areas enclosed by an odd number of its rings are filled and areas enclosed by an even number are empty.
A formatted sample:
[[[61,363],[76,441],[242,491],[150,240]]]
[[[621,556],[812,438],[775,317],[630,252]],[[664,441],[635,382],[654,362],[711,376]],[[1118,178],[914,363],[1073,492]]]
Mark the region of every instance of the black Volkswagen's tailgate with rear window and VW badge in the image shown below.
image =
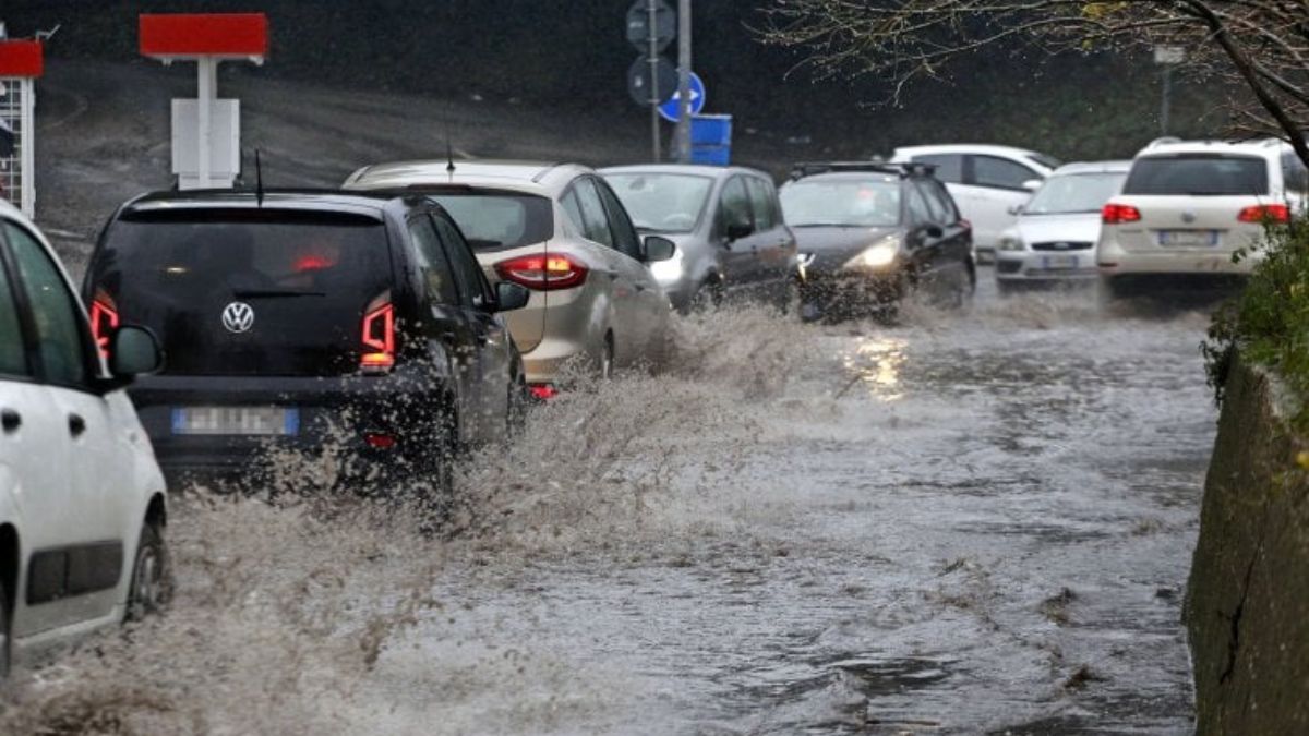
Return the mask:
[[[124,219],[105,234],[86,297],[154,330],[171,375],[357,371],[364,310],[391,284],[384,225],[296,212]],[[249,327],[224,312],[249,305]]]

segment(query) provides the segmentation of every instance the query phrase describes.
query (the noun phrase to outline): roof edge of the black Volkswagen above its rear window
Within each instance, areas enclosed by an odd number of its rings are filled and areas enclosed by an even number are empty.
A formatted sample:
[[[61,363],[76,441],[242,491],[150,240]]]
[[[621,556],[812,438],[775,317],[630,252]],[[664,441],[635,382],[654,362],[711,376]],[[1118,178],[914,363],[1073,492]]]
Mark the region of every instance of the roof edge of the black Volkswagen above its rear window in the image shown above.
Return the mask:
[[[127,212],[169,212],[177,210],[296,210],[306,212],[350,212],[382,219],[389,204],[402,199],[393,191],[272,190],[262,195],[246,190],[156,191],[123,206]]]

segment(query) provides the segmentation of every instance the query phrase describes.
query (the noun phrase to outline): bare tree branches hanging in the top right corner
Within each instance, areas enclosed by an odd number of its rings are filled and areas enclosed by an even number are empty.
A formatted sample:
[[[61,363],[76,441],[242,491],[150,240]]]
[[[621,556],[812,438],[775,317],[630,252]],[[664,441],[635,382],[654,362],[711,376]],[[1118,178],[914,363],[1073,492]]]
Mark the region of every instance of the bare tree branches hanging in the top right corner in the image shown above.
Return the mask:
[[[1007,45],[1179,46],[1213,89],[1247,90],[1225,100],[1245,132],[1285,139],[1309,165],[1309,0],[771,0],[764,12],[764,42],[806,50],[819,76],[881,76],[895,98],[918,77]]]

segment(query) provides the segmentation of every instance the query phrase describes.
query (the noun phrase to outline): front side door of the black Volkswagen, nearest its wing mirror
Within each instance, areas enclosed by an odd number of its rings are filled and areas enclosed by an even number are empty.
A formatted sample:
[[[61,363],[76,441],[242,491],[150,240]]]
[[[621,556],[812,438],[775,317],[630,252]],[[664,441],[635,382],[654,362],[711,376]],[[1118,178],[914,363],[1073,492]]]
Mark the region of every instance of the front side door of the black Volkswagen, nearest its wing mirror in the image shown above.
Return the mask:
[[[504,436],[508,427],[513,343],[504,321],[492,312],[495,296],[463,234],[439,213],[432,213],[432,223],[454,267],[459,306],[475,340],[476,384],[471,386],[471,401],[479,407],[479,439],[495,441]]]

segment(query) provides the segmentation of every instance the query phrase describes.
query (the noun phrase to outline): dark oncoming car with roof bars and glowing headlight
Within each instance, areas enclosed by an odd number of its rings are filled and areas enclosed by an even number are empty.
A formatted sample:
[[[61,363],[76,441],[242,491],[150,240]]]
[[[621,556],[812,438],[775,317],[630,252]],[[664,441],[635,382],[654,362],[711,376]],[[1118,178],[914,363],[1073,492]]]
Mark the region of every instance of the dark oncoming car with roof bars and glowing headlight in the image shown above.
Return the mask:
[[[885,313],[912,289],[946,305],[973,295],[973,228],[931,166],[798,164],[781,210],[796,233],[806,318]]]

